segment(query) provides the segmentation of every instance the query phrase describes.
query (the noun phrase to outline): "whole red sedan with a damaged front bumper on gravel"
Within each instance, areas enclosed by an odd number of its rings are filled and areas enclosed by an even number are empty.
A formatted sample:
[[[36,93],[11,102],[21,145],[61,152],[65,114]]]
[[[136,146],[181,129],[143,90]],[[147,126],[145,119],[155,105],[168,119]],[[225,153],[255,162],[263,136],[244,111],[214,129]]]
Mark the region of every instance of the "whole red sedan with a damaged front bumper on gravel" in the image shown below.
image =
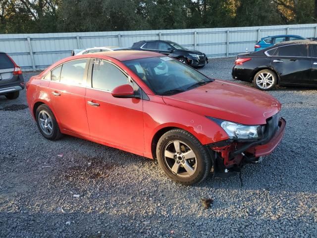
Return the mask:
[[[60,60],[27,83],[40,132],[68,134],[151,159],[190,185],[235,175],[281,141],[281,104],[172,58],[114,51]]]

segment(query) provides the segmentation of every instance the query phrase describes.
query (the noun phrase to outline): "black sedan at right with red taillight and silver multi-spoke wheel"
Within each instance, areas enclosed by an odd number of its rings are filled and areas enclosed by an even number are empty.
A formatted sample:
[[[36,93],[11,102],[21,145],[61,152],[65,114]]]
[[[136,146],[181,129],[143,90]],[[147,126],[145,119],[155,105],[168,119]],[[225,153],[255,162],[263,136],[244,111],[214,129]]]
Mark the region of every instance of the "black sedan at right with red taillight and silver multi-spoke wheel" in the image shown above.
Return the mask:
[[[317,86],[317,42],[289,41],[240,54],[232,77],[253,82],[260,90],[270,90],[276,84]]]

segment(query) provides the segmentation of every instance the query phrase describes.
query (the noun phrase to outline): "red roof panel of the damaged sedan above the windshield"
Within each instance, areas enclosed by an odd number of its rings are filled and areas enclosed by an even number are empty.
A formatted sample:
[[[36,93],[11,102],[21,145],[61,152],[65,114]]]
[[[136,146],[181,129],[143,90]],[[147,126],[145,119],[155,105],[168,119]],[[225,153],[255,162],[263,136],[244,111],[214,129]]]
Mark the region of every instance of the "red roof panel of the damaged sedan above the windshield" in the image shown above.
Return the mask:
[[[149,51],[108,51],[108,52],[98,52],[98,53],[87,54],[86,56],[88,55],[107,56],[119,61],[137,60],[137,59],[143,59],[143,58],[164,56],[162,54],[159,54],[156,52],[149,52]]]

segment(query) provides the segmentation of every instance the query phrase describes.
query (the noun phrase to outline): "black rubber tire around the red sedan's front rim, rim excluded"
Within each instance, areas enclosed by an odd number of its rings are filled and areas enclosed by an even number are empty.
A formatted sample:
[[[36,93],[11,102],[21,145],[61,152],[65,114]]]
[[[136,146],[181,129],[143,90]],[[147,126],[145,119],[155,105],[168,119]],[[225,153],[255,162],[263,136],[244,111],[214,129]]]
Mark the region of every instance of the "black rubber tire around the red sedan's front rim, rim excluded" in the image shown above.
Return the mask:
[[[166,164],[166,159],[164,159],[164,152],[166,147],[169,144],[173,143],[173,141],[177,140],[186,143],[189,146],[189,148],[195,153],[196,156],[195,172],[188,178],[181,178],[177,174],[173,173],[170,170],[169,165]],[[182,147],[180,146],[180,148]],[[166,174],[166,176],[174,180],[175,182],[181,183],[183,185],[192,185],[195,183],[199,183],[206,179],[211,172],[212,162],[205,147],[199,142],[199,140],[195,136],[193,136],[185,130],[172,129],[164,133],[159,139],[156,152],[159,166],[161,167],[162,171]],[[180,165],[182,166],[182,164]],[[184,167],[180,168],[183,168],[183,170],[185,169]]]

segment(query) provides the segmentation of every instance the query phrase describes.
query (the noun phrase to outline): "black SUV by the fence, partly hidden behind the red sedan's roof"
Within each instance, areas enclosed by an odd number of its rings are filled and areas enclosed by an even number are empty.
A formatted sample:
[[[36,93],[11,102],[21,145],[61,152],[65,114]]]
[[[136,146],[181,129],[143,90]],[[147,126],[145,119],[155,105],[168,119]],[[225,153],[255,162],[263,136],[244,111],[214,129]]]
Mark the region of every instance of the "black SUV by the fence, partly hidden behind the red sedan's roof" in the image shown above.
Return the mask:
[[[158,52],[197,68],[202,68],[208,63],[204,53],[188,50],[172,41],[139,41],[134,43],[131,49]]]

